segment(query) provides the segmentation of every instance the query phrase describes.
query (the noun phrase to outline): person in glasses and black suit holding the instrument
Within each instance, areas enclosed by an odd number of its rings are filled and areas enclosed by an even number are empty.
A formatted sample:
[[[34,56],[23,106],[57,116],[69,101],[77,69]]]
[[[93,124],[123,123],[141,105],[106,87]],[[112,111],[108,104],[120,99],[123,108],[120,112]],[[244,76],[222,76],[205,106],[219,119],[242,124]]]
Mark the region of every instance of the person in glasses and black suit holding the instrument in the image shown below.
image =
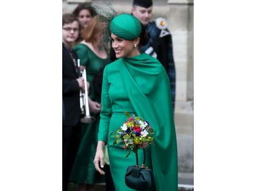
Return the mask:
[[[78,56],[72,43],[79,37],[80,24],[74,14],[62,16],[62,99],[64,116],[62,123],[62,190],[68,189],[68,179],[80,141],[80,90],[85,82],[77,65]]]

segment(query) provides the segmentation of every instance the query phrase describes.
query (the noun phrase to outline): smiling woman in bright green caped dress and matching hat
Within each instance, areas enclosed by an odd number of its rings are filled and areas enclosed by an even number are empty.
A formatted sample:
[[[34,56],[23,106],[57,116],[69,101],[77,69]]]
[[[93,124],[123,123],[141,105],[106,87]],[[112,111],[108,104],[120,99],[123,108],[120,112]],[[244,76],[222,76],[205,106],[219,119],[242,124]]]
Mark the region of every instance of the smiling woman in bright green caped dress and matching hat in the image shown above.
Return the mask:
[[[154,129],[154,144],[147,145],[145,166],[153,170],[156,191],[177,191],[177,141],[169,78],[161,63],[139,46],[148,41],[137,18],[119,14],[109,24],[112,47],[118,58],[106,65],[102,82],[102,110],[94,165],[104,175],[104,145],[109,150],[111,175],[116,191],[131,191],[125,184],[126,169],[136,162],[122,141],[113,145],[113,135],[127,120],[124,111],[144,118]],[[142,147],[142,145],[141,145]],[[144,144],[143,144],[144,147]],[[143,160],[140,149],[139,161]]]

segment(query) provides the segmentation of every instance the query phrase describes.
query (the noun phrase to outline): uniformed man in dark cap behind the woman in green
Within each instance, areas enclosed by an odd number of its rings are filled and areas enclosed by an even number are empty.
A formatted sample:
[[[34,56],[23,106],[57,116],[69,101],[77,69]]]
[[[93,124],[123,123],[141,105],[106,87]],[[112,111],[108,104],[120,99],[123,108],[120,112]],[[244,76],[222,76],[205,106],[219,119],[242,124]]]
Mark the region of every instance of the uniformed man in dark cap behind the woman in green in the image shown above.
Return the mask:
[[[165,18],[152,20],[152,0],[134,0],[132,15],[136,16],[150,33],[150,41],[141,47],[141,51],[157,58],[165,67],[170,80],[173,113],[175,107],[175,65],[173,60],[173,43],[167,29]]]

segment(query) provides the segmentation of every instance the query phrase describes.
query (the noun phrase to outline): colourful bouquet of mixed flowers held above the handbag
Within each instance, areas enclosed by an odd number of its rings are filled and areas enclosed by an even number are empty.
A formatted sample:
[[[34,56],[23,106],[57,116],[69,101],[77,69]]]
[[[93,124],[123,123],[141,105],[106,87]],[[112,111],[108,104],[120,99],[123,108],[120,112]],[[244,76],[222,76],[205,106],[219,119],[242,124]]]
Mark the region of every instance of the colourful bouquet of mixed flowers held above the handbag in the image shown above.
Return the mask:
[[[115,141],[113,145],[117,144],[119,141],[123,141],[124,150],[130,150],[130,152],[137,153],[137,148],[142,143],[153,143],[154,138],[152,135],[153,129],[150,126],[150,123],[135,116],[132,114],[128,114],[128,112],[124,112],[128,119],[124,122],[124,124],[116,131]],[[126,155],[126,158],[129,156],[130,152]]]

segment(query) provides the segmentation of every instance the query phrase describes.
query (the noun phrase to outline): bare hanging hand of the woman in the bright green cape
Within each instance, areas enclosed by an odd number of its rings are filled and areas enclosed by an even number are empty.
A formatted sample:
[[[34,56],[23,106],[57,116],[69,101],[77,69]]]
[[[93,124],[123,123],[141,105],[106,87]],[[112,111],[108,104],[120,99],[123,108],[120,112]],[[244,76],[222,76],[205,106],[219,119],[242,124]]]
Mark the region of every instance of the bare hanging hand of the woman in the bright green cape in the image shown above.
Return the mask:
[[[105,174],[105,172],[102,171],[102,169],[100,169],[104,167],[104,151],[103,151],[104,145],[105,145],[104,141],[98,141],[97,151],[94,157],[94,167],[96,171],[98,171],[101,175]]]

